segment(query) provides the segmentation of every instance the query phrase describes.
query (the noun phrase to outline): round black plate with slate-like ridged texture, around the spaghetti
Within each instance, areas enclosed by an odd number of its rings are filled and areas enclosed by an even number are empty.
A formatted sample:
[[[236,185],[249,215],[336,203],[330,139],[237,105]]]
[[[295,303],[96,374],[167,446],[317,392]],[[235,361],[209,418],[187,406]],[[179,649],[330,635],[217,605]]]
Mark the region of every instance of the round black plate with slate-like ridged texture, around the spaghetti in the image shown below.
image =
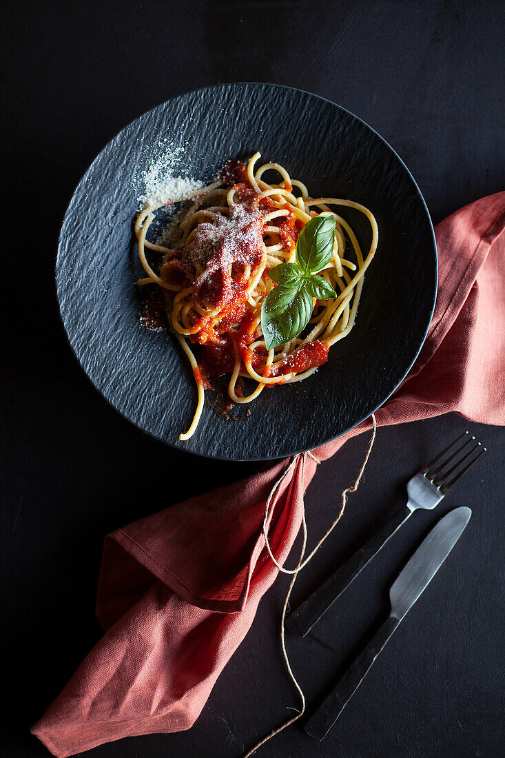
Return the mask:
[[[174,337],[139,322],[130,255],[139,175],[166,141],[185,175],[209,180],[227,158],[259,150],[309,187],[368,206],[378,252],[365,276],[356,325],[308,380],[264,390],[223,418],[206,407],[180,442],[196,388]],[[368,222],[340,211],[365,245]],[[258,460],[312,449],[381,406],[416,359],[431,320],[437,253],[428,210],[403,162],[370,127],[328,100],[271,84],[222,84],[159,105],[118,134],[80,181],[58,247],[56,280],[71,346],[95,387],[159,440],[221,459]],[[211,396],[212,393],[206,393]],[[210,405],[215,404],[212,400]],[[249,410],[249,415],[246,415]]]

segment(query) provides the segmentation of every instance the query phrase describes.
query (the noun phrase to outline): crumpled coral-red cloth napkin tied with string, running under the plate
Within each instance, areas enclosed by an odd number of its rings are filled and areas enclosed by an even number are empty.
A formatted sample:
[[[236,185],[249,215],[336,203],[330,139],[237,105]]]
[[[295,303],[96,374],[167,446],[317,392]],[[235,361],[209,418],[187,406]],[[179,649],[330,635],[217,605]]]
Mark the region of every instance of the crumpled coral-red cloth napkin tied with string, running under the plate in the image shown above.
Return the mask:
[[[416,364],[378,425],[456,411],[505,424],[505,192],[436,229],[439,289]],[[314,451],[328,459],[361,424]],[[105,539],[96,612],[104,637],[33,734],[55,756],[129,735],[190,728],[240,645],[300,528],[314,475],[306,454],[179,503]],[[304,473],[303,473],[304,469]]]

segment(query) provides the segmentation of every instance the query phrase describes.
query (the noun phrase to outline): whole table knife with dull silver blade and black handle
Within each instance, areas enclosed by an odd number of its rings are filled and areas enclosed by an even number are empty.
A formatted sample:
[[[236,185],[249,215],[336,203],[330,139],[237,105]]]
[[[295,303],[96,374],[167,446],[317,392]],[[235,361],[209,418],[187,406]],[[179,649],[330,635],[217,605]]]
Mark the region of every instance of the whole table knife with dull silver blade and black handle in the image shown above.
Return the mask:
[[[391,613],[387,622],[381,626],[326,700],[306,722],[303,728],[308,735],[316,740],[322,740],[328,734],[391,634],[406,612],[416,603],[422,591],[428,587],[431,579],[459,540],[471,515],[472,511],[466,507],[450,511],[422,541],[389,591]]]

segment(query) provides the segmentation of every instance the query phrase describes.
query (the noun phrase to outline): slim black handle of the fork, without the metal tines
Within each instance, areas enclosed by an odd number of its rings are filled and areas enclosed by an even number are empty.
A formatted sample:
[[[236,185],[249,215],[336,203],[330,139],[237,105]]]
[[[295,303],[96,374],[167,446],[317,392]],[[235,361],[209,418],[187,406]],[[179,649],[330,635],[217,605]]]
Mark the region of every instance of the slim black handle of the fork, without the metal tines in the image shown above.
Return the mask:
[[[359,572],[365,568],[372,558],[384,547],[387,540],[406,522],[412,511],[408,506],[400,508],[384,524],[380,531],[360,548],[354,555],[337,571],[329,577],[321,587],[310,595],[307,600],[296,608],[286,619],[287,628],[293,634],[299,634],[305,637],[315,622],[321,619],[322,615],[337,600],[343,590],[349,587],[350,583]]]

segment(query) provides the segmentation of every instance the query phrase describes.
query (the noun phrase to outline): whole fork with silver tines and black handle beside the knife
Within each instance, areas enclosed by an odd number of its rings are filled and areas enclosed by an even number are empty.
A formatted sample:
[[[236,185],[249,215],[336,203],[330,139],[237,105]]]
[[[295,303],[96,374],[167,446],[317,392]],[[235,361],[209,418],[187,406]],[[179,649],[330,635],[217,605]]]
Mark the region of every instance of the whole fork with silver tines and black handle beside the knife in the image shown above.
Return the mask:
[[[468,460],[475,450],[478,452]],[[374,537],[287,617],[287,628],[294,634],[305,637],[315,622],[318,622],[337,597],[340,597],[343,590],[349,587],[365,565],[368,565],[384,547],[387,540],[405,524],[407,518],[419,508],[431,510],[438,506],[450,487],[456,484],[456,481],[463,476],[465,471],[468,471],[482,453],[485,453],[485,450],[486,448],[482,447],[480,442],[475,442],[475,437],[470,437],[466,431],[447,445],[441,453],[438,453],[410,479],[407,484],[409,499],[406,506],[394,513]],[[460,468],[463,463],[465,465]],[[448,465],[450,468],[447,468]]]

